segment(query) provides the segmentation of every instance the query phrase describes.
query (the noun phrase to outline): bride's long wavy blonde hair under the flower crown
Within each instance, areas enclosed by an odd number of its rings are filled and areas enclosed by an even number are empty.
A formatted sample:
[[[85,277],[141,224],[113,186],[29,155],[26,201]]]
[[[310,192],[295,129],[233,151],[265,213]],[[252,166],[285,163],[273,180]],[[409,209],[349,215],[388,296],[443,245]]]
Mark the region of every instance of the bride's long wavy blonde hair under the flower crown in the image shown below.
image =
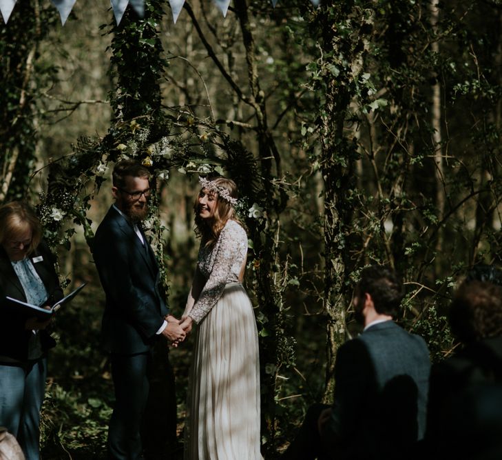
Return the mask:
[[[205,246],[213,246],[213,244],[216,243],[216,240],[220,236],[220,233],[223,230],[225,224],[230,219],[236,221],[242,226],[242,222],[237,217],[232,203],[229,201],[229,199],[225,199],[224,197],[220,196],[223,190],[227,190],[228,193],[224,194],[226,194],[228,197],[231,197],[231,199],[236,200],[236,183],[232,179],[227,179],[226,177],[216,177],[214,179],[211,179],[209,183],[212,186],[211,188],[205,188],[202,184],[202,188],[200,190],[206,190],[207,193],[213,192],[213,194],[216,196],[216,208],[214,210],[213,217],[211,219],[202,219],[202,217],[199,216],[198,194],[194,203],[196,234],[202,238],[202,243],[204,243]],[[220,190],[220,192],[217,192],[214,189]]]

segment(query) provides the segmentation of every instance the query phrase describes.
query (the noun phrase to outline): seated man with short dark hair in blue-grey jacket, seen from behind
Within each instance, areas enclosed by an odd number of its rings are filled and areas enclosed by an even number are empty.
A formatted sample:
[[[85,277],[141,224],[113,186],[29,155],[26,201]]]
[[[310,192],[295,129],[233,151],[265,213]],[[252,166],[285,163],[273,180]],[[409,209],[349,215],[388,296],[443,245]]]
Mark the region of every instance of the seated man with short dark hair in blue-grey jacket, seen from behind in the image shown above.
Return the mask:
[[[362,271],[353,306],[364,331],[337,352],[333,406],[309,408],[283,459],[406,458],[423,437],[429,353],[393,321],[402,298],[388,268]]]

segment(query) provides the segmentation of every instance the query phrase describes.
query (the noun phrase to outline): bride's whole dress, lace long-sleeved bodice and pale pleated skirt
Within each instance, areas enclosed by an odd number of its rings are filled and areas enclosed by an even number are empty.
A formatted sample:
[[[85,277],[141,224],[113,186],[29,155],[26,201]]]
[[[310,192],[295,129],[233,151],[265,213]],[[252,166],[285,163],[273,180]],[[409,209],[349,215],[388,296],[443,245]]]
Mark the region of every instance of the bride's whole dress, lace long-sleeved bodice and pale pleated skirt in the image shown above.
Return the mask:
[[[247,235],[228,221],[201,245],[183,317],[198,323],[190,370],[185,460],[260,460],[260,372],[253,308],[240,280]]]

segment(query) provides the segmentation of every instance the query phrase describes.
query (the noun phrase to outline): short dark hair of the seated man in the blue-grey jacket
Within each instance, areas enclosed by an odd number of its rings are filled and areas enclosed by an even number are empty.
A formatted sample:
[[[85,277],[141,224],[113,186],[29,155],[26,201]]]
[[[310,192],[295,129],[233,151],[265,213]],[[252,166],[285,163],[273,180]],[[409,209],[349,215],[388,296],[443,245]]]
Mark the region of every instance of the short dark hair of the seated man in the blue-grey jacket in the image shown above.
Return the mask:
[[[368,293],[379,314],[397,315],[404,297],[403,286],[393,270],[373,265],[361,272],[361,281],[357,285],[357,294]]]

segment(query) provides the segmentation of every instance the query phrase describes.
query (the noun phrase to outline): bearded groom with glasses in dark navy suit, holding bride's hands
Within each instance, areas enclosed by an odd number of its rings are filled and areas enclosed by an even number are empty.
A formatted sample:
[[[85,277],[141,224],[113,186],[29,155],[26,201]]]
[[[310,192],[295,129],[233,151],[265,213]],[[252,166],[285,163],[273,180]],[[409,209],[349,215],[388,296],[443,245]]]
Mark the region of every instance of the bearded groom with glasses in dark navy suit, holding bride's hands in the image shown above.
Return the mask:
[[[140,226],[147,217],[151,174],[136,161],[116,163],[109,208],[94,239],[94,261],[105,290],[102,335],[110,354],[115,407],[108,430],[110,459],[143,458],[141,419],[149,392],[151,350],[163,335],[185,339],[168,314],[158,265]]]

